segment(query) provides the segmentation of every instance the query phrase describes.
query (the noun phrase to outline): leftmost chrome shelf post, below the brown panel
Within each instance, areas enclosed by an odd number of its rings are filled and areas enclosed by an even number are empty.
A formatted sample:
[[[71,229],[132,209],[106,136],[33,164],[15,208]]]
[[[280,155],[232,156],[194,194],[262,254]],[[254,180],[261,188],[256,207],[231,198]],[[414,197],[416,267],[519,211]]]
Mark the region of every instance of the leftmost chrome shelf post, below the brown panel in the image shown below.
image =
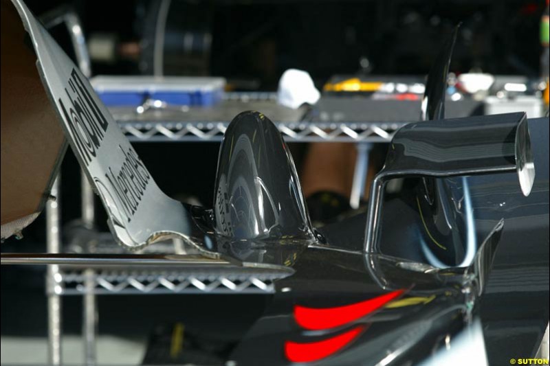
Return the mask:
[[[61,207],[60,207],[61,174],[52,185],[52,196],[46,205],[46,245],[48,253],[59,253],[61,249]],[[63,326],[61,322],[61,273],[59,266],[50,264],[46,272],[47,293],[47,325],[48,325],[48,361],[51,365],[61,365],[61,336]]]

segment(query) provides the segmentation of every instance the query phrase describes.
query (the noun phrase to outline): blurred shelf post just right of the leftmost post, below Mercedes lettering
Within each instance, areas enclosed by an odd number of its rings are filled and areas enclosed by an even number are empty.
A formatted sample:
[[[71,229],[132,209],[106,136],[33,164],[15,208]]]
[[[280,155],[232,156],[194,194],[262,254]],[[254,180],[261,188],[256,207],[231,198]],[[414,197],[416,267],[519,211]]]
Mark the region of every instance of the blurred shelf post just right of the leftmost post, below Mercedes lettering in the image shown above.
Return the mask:
[[[95,206],[94,191],[88,182],[85,172],[80,174],[82,220],[88,228],[94,227]],[[89,248],[88,248],[89,250]],[[84,341],[84,364],[96,365],[97,347],[96,334],[98,329],[98,311],[96,300],[96,276],[94,270],[87,268],[84,271],[85,293],[83,296],[83,341]]]

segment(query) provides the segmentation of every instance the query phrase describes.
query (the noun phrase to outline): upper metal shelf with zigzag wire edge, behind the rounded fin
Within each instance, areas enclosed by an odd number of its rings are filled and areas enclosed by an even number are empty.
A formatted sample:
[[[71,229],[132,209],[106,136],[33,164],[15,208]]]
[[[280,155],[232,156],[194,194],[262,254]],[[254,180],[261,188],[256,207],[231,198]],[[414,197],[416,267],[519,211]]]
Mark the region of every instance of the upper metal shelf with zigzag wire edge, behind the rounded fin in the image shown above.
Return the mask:
[[[388,142],[406,122],[307,122],[307,108],[293,110],[277,104],[276,93],[225,93],[212,108],[170,106],[146,113],[133,108],[111,108],[113,117],[131,141],[221,141],[230,119],[241,111],[265,111],[287,141]]]

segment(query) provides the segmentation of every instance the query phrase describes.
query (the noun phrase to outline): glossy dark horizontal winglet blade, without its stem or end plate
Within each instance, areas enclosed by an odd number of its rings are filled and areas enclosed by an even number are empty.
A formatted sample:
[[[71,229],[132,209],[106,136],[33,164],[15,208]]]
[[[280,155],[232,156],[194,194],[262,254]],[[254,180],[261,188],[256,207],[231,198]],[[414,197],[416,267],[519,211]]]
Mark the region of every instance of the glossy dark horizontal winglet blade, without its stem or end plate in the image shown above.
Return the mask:
[[[516,171],[516,133],[525,113],[407,124],[395,134],[383,173],[466,175]],[[529,139],[529,135],[523,135]],[[527,143],[525,143],[527,145]]]

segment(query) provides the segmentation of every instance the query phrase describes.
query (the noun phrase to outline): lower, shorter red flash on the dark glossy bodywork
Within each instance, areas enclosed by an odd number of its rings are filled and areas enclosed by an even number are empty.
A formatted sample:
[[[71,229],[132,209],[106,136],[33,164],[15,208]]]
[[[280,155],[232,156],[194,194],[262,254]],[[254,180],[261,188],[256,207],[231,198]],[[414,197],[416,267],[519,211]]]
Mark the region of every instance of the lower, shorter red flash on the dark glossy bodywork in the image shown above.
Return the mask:
[[[290,362],[314,362],[342,350],[343,347],[354,341],[364,329],[358,325],[338,336],[323,341],[311,343],[285,342],[285,356]]]

